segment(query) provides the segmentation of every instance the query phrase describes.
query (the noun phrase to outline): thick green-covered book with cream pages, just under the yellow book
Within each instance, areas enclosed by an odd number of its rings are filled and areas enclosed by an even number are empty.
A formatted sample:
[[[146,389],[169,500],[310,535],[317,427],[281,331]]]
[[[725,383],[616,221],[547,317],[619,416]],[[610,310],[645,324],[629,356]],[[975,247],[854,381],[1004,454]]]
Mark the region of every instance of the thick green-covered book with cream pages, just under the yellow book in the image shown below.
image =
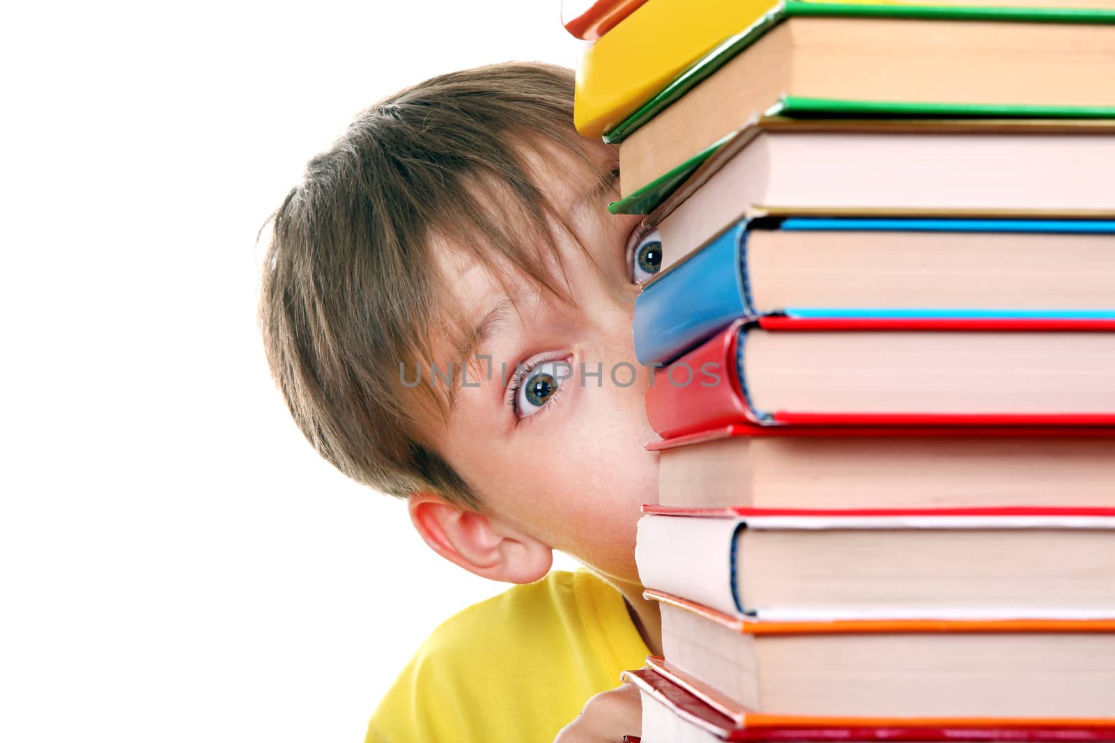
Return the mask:
[[[766,108],[765,114],[767,116],[777,116],[779,118],[786,119],[855,119],[855,120],[880,120],[880,119],[893,119],[893,120],[928,120],[928,119],[964,119],[964,120],[987,120],[987,119],[1007,119],[1007,120],[1029,120],[1029,119],[1054,119],[1054,120],[1095,120],[1095,119],[1115,119],[1115,85],[1107,85],[1104,80],[1115,79],[1115,10],[1082,10],[1082,9],[1049,9],[1049,8],[990,8],[990,7],[957,7],[957,6],[915,6],[915,4],[855,4],[855,3],[828,3],[828,2],[808,2],[799,0],[789,0],[788,2],[777,7],[768,16],[763,18],[760,21],[755,23],[753,27],[746,31],[734,36],[726,41],[724,41],[716,49],[711,50],[701,60],[695,63],[689,70],[678,77],[672,84],[670,84],[665,90],[662,90],[658,96],[648,101],[641,109],[639,109],[633,116],[628,120],[623,121],[615,129],[605,135],[604,139],[608,143],[617,143],[626,139],[632,133],[638,130],[640,127],[646,125],[648,121],[653,119],[663,109],[668,108],[671,104],[678,101],[687,92],[691,91],[694,87],[704,80],[707,80],[715,72],[717,72],[725,65],[730,62],[737,55],[743,52],[748,47],[752,47],[759,39],[764,38],[766,35],[770,33],[780,23],[786,22],[788,19],[795,17],[807,17],[807,18],[828,18],[828,19],[884,19],[884,20],[895,20],[895,21],[946,21],[951,22],[949,26],[953,27],[956,30],[954,37],[967,37],[967,50],[969,55],[976,55],[978,62],[986,66],[985,69],[973,70],[975,72],[982,72],[986,70],[1006,69],[1010,70],[1012,75],[1019,75],[1015,72],[1015,68],[1010,65],[1012,59],[1018,59],[1019,56],[1029,55],[1029,49],[1034,48],[1035,53],[1032,55],[1032,60],[1030,61],[1030,71],[1034,72],[1034,66],[1038,65],[1036,70],[1036,76],[1040,77],[1045,69],[1053,70],[1051,67],[1046,67],[1046,57],[1043,52],[1053,52],[1055,56],[1060,57],[1060,67],[1056,68],[1056,74],[1050,72],[1049,78],[1044,80],[1046,85],[1045,89],[1038,87],[1025,88],[1024,92],[1030,90],[1036,90],[1035,95],[1044,95],[1043,90],[1049,90],[1050,86],[1057,88],[1054,94],[1050,94],[1050,98],[1056,99],[1056,95],[1060,95],[1060,89],[1066,86],[1060,85],[1061,80],[1065,80],[1064,75],[1076,75],[1079,69],[1080,74],[1075,79],[1069,79],[1075,86],[1076,91],[1074,96],[1080,95],[1083,99],[1089,105],[1034,105],[1032,102],[1010,102],[1010,94],[1005,96],[999,96],[1000,100],[997,102],[956,102],[956,101],[934,101],[934,100],[855,100],[849,98],[836,98],[836,97],[818,97],[818,96],[802,96],[786,94],[777,99],[763,100],[758,108]],[[952,21],[996,21],[996,22],[1008,22],[1018,23],[1019,28],[1017,31],[1011,30],[1009,37],[1015,41],[1015,48],[1008,49],[1004,52],[1000,47],[996,46],[993,49],[996,52],[1004,55],[1002,65],[986,65],[988,60],[995,60],[993,57],[989,57],[983,53],[980,48],[983,43],[983,35],[986,30],[980,28],[979,36],[972,39],[972,33],[963,31],[966,27],[958,27]],[[812,23],[812,21],[811,21]],[[1112,27],[1111,30],[1106,28],[1095,28],[1095,31],[1088,31],[1086,29],[1080,29],[1080,38],[1086,42],[1082,48],[1077,47],[1075,41],[1076,36],[1073,36],[1066,40],[1064,33],[1050,28],[1051,26],[1066,26],[1066,25],[1087,25],[1093,28],[1095,27]],[[1030,28],[1026,28],[1030,27]],[[1038,27],[1038,28],[1034,28]],[[822,27],[824,28],[824,27]],[[816,28],[813,30],[813,39],[826,39],[830,38],[828,35],[838,35],[840,29],[843,28],[841,25],[831,25],[830,28],[825,29],[825,36],[817,36]],[[852,27],[849,27],[852,28]],[[871,27],[862,27],[869,29],[867,31],[862,31],[874,35],[873,38],[890,39],[890,36],[880,36],[878,29],[871,29]],[[895,29],[904,29],[903,23],[899,23],[894,27]],[[796,32],[795,32],[796,33]],[[918,45],[921,42],[923,36],[921,28],[910,27],[908,30],[902,31],[909,39],[909,43]],[[1074,31],[1075,33],[1075,31]],[[901,36],[895,31],[896,36]],[[938,35],[931,35],[937,37]],[[1001,36],[1001,35],[1000,35]],[[838,37],[837,37],[838,38]],[[855,38],[860,37],[846,37]],[[794,36],[783,36],[777,40],[777,45],[789,43],[789,39],[796,45],[796,37]],[[1036,46],[1029,46],[1025,40],[1032,41]],[[772,42],[774,43],[774,42]],[[813,41],[814,48],[817,42]],[[844,46],[849,46],[850,42],[845,41]],[[940,43],[934,41],[933,43]],[[1019,45],[1021,45],[1019,47]],[[1043,45],[1045,45],[1043,47]],[[1090,45],[1090,46],[1088,46]],[[766,49],[772,48],[770,45],[765,45]],[[791,53],[796,55],[797,47],[782,47],[784,50],[786,48],[791,49]],[[854,67],[855,65],[870,65],[875,63],[875,58],[883,57],[885,63],[885,57],[890,55],[890,50],[886,49],[885,45],[880,45],[879,47],[882,51],[878,49],[872,53],[874,57],[863,57],[853,58],[850,65],[853,66],[853,74],[859,70]],[[856,48],[857,49],[857,48]],[[911,77],[909,78],[912,82],[918,82],[920,80],[929,80],[932,85],[937,81],[944,80],[946,87],[951,85],[951,80],[960,79],[967,77],[967,68],[959,68],[957,63],[953,63],[951,75],[952,77],[940,77],[933,78],[932,72],[935,68],[931,67],[937,63],[934,60],[940,59],[941,55],[947,53],[941,50],[940,46],[930,47],[932,55],[938,55],[933,57],[931,55],[925,55],[924,57],[914,57],[906,55],[906,61],[910,59],[919,60],[918,63],[921,65],[920,68],[894,68],[890,70],[884,70],[883,74],[890,74],[892,80],[890,85],[892,89],[895,88],[896,81],[901,82],[906,78],[901,77],[895,69],[914,69],[912,75],[922,75],[925,77]],[[951,51],[951,47],[946,48]],[[1021,49],[1021,51],[1019,50]],[[826,50],[827,51],[827,50]],[[783,53],[786,53],[783,51]],[[1078,55],[1079,58],[1075,59],[1074,56]],[[737,114],[728,114],[734,109],[724,108],[726,113],[726,119],[717,119],[716,113],[719,107],[719,101],[724,98],[717,97],[717,95],[723,94],[726,96],[734,96],[735,88],[730,87],[736,85],[736,80],[740,79],[752,79],[746,77],[752,75],[750,72],[744,72],[746,70],[746,65],[757,63],[754,60],[764,59],[763,57],[752,56],[753,61],[745,62],[745,67],[736,66],[730,70],[729,77],[718,78],[716,81],[719,88],[702,88],[698,91],[698,97],[704,95],[704,101],[701,104],[695,104],[694,108],[682,109],[682,116],[689,114],[695,118],[687,124],[687,126],[681,126],[679,121],[685,121],[683,118],[679,118],[673,115],[672,120],[669,120],[662,125],[655,121],[653,127],[648,128],[648,133],[637,138],[638,141],[629,143],[626,147],[620,150],[620,165],[621,170],[629,183],[632,183],[637,189],[629,193],[624,198],[619,202],[614,202],[610,205],[610,209],[614,214],[649,214],[655,209],[670,193],[673,192],[681,183],[686,182],[692,174],[700,168],[700,166],[708,160],[708,158],[717,151],[717,149],[730,138],[731,133],[725,134],[725,120],[727,124],[731,124],[731,118]],[[794,57],[796,59],[796,57]],[[871,62],[861,61],[861,59],[871,59]],[[1036,61],[1035,61],[1036,60]],[[1067,60],[1067,61],[1066,61]],[[740,60],[741,62],[744,60]],[[951,60],[950,60],[951,61]],[[962,61],[962,58],[961,58]],[[959,63],[959,62],[958,62]],[[930,74],[925,74],[927,66],[930,68]],[[796,68],[795,68],[796,69]],[[864,75],[870,75],[870,66],[865,68],[867,70]],[[775,72],[772,72],[775,74]],[[785,70],[780,70],[785,79],[789,79]],[[999,74],[999,72],[995,72]],[[855,88],[859,86],[860,77],[851,76],[845,71],[844,77],[832,77],[827,68],[817,72],[816,65],[812,68],[813,82],[808,86],[799,87],[817,87],[826,85],[826,79],[838,80],[841,84],[847,81],[847,87]],[[833,74],[835,75],[835,74]],[[745,76],[745,77],[740,77]],[[1090,77],[1089,77],[1090,76]],[[978,78],[978,76],[976,76]],[[1009,75],[1008,75],[1009,77]],[[795,78],[796,80],[797,78]],[[865,78],[864,78],[865,79]],[[999,82],[998,78],[990,78],[990,82],[987,82],[988,78],[982,78],[982,88],[977,88],[977,90],[982,89],[997,89]],[[1026,78],[1027,82],[1031,78]],[[821,82],[817,82],[821,80]],[[1018,80],[1012,80],[1012,82],[1018,84]],[[772,81],[768,87],[777,88],[782,84],[777,81]],[[788,88],[787,84],[787,88]],[[941,85],[935,85],[935,89],[940,90]],[[903,84],[901,87],[902,91],[905,92],[906,88]],[[1080,92],[1083,90],[1083,92]],[[808,90],[802,90],[802,92],[808,92]],[[717,95],[714,95],[717,94]],[[977,94],[983,95],[983,94]],[[958,96],[959,97],[959,96]],[[969,91],[969,98],[976,97]],[[988,96],[991,97],[991,96]],[[762,95],[758,95],[762,98]],[[1002,102],[1002,98],[1006,98],[1008,102]],[[1065,96],[1061,96],[1064,99]],[[1090,105],[1099,104],[1099,105]],[[726,104],[727,106],[728,104]],[[698,107],[699,106],[699,107]],[[750,106],[750,104],[748,104]],[[736,108],[738,108],[738,101]],[[696,111],[696,113],[695,113]],[[701,113],[704,111],[704,113]],[[716,141],[712,141],[714,137],[709,136],[710,127],[698,127],[692,129],[690,134],[689,126],[692,124],[705,125],[706,123],[712,123],[719,127],[719,131],[716,131]],[[737,126],[743,126],[745,121],[740,120]],[[706,137],[708,137],[706,139]],[[705,144],[701,141],[705,139]],[[688,153],[686,151],[688,149]],[[696,151],[695,151],[696,150]],[[661,168],[661,170],[658,170]],[[657,172],[656,172],[657,170]],[[665,170],[665,173],[662,173]],[[639,185],[642,184],[642,185]]]

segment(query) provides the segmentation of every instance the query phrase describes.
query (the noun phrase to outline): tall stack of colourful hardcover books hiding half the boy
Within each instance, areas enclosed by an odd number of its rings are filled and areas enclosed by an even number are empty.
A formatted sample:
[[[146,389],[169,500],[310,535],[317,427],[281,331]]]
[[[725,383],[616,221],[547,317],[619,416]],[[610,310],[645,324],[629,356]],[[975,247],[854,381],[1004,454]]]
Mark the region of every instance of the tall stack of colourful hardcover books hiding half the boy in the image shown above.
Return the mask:
[[[588,4],[643,743],[1115,740],[1115,2]]]

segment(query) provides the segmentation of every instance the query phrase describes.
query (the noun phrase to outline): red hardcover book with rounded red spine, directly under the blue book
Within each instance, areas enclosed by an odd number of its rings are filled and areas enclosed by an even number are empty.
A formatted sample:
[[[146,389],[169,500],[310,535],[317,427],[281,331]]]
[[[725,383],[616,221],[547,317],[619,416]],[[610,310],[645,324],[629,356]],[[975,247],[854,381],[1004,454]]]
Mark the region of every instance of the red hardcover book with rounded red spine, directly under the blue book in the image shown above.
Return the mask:
[[[655,372],[663,438],[782,426],[1115,426],[1115,321],[745,317]]]

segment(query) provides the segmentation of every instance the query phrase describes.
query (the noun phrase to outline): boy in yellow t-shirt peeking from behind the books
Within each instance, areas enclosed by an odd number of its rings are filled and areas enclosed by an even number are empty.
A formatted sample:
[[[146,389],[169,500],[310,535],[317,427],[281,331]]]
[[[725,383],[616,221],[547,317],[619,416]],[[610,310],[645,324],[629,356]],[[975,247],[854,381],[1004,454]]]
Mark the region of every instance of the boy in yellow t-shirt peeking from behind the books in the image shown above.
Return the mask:
[[[436,553],[521,584],[442,625],[367,740],[620,741],[660,652],[634,565],[657,500],[631,314],[657,271],[573,76],[497,65],[362,114],[274,216],[260,322],[299,427]],[[547,575],[552,550],[586,567]]]

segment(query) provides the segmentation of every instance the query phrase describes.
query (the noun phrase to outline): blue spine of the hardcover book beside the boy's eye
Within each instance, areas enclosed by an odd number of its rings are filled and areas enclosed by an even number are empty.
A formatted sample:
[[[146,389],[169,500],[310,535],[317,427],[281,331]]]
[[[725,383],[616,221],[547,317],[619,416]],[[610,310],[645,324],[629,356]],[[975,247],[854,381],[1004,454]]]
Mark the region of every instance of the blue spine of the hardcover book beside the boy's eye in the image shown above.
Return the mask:
[[[746,237],[744,223],[646,284],[634,303],[640,364],[673,361],[749,313],[740,263]]]

